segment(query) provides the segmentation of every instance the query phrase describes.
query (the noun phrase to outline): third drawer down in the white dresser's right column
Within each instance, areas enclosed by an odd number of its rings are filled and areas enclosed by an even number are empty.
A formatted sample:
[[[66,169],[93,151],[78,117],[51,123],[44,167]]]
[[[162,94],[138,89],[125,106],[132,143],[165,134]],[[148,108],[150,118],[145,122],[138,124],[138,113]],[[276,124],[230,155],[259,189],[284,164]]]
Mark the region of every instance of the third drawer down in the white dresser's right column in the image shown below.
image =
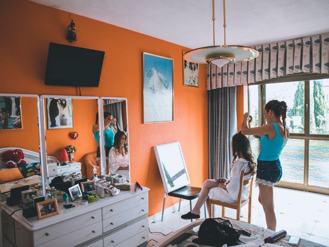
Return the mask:
[[[104,247],[113,247],[128,238],[131,238],[149,228],[149,219],[143,219],[135,224],[123,228],[117,233],[114,233],[104,238]],[[128,245],[127,245],[128,246]],[[129,245],[130,246],[130,245]],[[137,245],[136,245],[137,246]]]

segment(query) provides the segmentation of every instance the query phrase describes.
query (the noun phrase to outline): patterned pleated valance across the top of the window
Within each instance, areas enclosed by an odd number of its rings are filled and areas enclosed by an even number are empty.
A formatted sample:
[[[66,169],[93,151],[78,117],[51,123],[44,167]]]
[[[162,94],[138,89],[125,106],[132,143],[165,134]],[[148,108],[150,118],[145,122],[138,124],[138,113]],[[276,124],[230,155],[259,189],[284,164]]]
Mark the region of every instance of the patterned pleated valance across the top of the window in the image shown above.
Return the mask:
[[[295,73],[329,74],[329,33],[252,46],[260,55],[222,68],[207,65],[207,90],[251,84]]]

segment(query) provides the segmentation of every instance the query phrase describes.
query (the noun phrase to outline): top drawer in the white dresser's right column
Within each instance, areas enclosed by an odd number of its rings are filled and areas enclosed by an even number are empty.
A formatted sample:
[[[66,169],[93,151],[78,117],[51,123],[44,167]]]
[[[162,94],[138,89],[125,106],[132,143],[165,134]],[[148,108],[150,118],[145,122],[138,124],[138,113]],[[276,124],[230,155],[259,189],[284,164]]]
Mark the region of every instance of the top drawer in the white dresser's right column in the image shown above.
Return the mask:
[[[106,219],[111,216],[118,215],[119,213],[126,211],[130,208],[133,208],[137,205],[148,202],[148,191],[141,193],[135,197],[114,203],[112,205],[102,208],[102,219]]]

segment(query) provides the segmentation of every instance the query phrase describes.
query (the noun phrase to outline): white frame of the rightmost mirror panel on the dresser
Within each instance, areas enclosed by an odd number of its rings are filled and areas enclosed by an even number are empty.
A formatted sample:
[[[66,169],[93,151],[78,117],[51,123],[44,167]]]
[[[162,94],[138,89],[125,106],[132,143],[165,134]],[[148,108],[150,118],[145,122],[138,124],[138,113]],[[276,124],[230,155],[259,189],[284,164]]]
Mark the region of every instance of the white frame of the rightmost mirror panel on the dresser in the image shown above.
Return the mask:
[[[104,104],[103,104],[103,100],[121,100],[121,101],[125,101],[125,110],[126,110],[126,119],[127,119],[127,143],[128,143],[128,162],[129,162],[129,183],[131,183],[131,164],[130,164],[130,142],[129,142],[129,119],[128,119],[128,100],[127,98],[122,98],[122,97],[100,97],[100,101],[101,104],[99,104],[99,116],[103,116],[104,115]],[[102,132],[104,132],[104,120],[99,118],[99,128],[102,130]],[[104,133],[100,135],[100,144],[104,143]],[[104,147],[100,145],[100,147]],[[101,171],[104,171],[104,173],[106,173],[106,157],[105,157],[105,150],[104,148],[100,148],[101,152]],[[103,173],[101,173],[103,175]]]

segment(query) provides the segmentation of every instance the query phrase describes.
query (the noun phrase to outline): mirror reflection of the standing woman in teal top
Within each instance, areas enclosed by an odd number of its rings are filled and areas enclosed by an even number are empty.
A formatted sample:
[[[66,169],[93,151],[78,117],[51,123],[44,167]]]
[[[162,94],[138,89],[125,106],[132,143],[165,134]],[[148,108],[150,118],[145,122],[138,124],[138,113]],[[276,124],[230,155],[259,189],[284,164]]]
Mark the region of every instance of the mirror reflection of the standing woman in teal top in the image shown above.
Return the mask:
[[[104,112],[104,140],[105,140],[105,155],[106,155],[106,174],[109,172],[108,167],[108,152],[114,144],[114,132],[111,123],[115,122],[116,119],[109,112]],[[100,166],[100,150],[99,150],[99,123],[98,113],[96,113],[96,123],[93,126],[93,134],[97,141],[97,161]]]

